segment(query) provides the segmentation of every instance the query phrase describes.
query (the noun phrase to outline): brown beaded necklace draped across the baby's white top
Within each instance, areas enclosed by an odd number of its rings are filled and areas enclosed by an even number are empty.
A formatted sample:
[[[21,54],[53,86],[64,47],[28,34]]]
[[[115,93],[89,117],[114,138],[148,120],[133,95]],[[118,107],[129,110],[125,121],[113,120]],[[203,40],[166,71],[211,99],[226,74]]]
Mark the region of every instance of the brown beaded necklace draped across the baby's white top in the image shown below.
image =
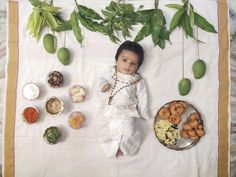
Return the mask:
[[[138,74],[138,73],[137,73]],[[129,87],[131,85],[135,85],[137,84],[141,79],[142,77],[138,74],[138,79],[133,81],[133,82],[123,82],[121,80],[118,79],[118,76],[117,76],[117,69],[115,67],[115,73],[113,74],[112,78],[115,80],[115,83],[113,85],[113,87],[111,88],[111,92],[110,92],[110,96],[109,96],[109,100],[108,100],[108,104],[111,105],[111,102],[113,100],[113,97],[118,93],[120,92],[122,89],[126,88],[126,87]],[[117,85],[117,82],[121,82],[121,83],[124,83],[126,85],[122,86],[121,88],[119,88],[117,91],[115,91],[115,88],[116,88],[116,85]]]

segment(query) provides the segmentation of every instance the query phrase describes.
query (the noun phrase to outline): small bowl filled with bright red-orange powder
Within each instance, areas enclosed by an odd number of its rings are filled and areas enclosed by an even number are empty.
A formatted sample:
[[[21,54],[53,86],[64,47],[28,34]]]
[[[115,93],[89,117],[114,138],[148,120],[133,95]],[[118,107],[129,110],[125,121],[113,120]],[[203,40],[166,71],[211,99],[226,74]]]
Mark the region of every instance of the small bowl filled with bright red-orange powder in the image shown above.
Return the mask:
[[[39,119],[39,110],[36,107],[26,107],[22,112],[22,118],[25,122],[32,124]]]

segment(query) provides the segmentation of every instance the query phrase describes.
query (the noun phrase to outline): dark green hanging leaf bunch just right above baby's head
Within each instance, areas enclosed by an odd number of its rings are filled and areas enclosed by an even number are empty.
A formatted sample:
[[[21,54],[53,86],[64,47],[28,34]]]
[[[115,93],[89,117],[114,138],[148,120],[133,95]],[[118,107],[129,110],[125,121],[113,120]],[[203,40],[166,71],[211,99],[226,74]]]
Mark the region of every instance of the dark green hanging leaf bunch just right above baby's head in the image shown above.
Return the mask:
[[[139,10],[136,12],[136,21],[143,26],[134,41],[139,42],[151,35],[154,46],[165,48],[165,41],[170,41],[169,31],[166,29],[166,20],[162,10],[158,9],[159,1],[155,0],[155,9]]]

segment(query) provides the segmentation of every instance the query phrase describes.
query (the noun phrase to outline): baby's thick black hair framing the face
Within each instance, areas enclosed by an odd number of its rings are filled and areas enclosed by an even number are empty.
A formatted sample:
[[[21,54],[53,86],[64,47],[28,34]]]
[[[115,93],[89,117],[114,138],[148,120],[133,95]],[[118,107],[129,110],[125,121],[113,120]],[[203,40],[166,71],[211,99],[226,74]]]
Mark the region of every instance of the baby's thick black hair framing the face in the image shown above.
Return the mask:
[[[123,42],[116,51],[116,55],[115,55],[116,61],[118,60],[120,53],[124,49],[130,50],[138,55],[138,59],[139,59],[138,68],[139,68],[141,66],[141,64],[143,63],[143,58],[144,58],[143,57],[144,56],[143,47],[136,42],[132,42],[132,41]]]

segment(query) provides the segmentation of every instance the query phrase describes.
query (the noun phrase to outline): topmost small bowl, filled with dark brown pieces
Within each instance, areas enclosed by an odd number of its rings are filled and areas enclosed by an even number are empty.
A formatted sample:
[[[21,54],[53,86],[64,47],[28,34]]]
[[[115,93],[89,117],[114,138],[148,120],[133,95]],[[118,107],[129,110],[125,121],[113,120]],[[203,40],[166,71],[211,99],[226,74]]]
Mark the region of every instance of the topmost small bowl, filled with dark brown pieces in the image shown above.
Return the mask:
[[[47,83],[52,88],[59,88],[63,85],[64,77],[59,71],[51,71],[47,75]]]

